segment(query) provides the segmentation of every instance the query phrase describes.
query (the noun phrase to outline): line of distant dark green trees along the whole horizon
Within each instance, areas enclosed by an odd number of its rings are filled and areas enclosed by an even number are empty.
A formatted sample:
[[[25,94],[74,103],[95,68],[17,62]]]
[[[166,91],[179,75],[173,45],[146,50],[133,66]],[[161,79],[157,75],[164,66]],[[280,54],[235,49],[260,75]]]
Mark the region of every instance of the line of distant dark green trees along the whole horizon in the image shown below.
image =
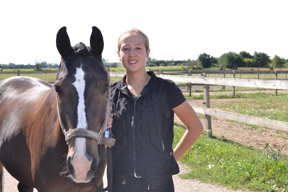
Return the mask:
[[[108,63],[108,59],[103,58],[103,63],[106,67],[119,67],[119,63]],[[223,68],[238,68],[238,67],[287,67],[288,59],[284,59],[278,55],[270,59],[264,52],[254,52],[253,55],[246,51],[240,53],[228,52],[223,53],[219,58],[213,57],[206,53],[202,53],[198,56],[197,60],[147,60],[147,66],[188,66],[190,69],[203,69],[209,67],[223,67]],[[35,71],[40,71],[42,68],[58,68],[59,65],[56,63],[47,63],[46,61],[41,62],[35,60],[34,65],[16,65],[14,63],[0,64],[2,69],[34,69]]]

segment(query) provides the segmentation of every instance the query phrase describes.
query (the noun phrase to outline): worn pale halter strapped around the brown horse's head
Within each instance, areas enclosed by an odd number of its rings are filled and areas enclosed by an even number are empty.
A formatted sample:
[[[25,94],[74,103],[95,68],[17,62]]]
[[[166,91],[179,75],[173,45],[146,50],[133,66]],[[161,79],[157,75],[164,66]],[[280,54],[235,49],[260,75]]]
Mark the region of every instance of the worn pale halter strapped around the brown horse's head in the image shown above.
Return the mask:
[[[108,82],[110,82],[110,75],[109,72],[107,71],[107,69],[104,66],[104,69],[107,73],[107,77],[108,77]],[[60,116],[60,110],[59,110],[59,101],[58,101],[58,95],[56,95],[56,99],[57,99],[57,112],[58,112],[58,117],[59,117],[59,121],[60,121],[60,126],[62,128],[63,134],[65,135],[65,140],[67,142],[67,145],[70,145],[70,139],[72,138],[79,138],[79,137],[87,137],[90,139],[94,139],[97,141],[98,145],[99,144],[104,144],[107,147],[113,147],[115,144],[115,139],[114,138],[106,138],[103,137],[103,133],[105,131],[105,129],[107,128],[107,124],[109,121],[109,118],[111,116],[111,111],[112,111],[112,103],[110,102],[110,97],[111,97],[111,89],[110,86],[107,90],[107,105],[106,105],[106,113],[105,113],[105,118],[104,118],[104,122],[102,127],[99,130],[99,133],[96,133],[92,130],[88,130],[88,129],[70,129],[69,131],[65,130],[65,126],[63,124],[63,121],[61,119]]]

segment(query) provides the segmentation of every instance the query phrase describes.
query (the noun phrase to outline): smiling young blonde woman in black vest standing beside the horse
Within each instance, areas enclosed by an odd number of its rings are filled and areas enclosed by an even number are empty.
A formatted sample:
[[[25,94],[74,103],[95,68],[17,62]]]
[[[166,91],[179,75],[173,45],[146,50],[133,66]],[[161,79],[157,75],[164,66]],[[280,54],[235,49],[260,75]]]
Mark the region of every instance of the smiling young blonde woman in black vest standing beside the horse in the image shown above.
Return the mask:
[[[126,75],[111,83],[113,192],[174,191],[177,161],[201,135],[202,123],[173,81],[146,71],[150,49],[142,31],[122,33],[117,53]],[[174,113],[187,130],[173,150]]]

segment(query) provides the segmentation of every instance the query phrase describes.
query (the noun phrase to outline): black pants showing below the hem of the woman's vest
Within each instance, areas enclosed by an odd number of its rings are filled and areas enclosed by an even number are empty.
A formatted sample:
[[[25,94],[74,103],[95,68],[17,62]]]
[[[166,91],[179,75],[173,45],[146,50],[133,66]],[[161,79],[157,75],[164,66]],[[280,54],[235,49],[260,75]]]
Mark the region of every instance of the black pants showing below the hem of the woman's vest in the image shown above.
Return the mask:
[[[174,192],[174,184],[171,177],[163,187],[152,188],[151,185],[149,185],[149,183],[142,177],[136,178],[134,176],[128,176],[125,179],[124,185],[120,184],[118,187],[113,185],[112,190],[113,192]]]

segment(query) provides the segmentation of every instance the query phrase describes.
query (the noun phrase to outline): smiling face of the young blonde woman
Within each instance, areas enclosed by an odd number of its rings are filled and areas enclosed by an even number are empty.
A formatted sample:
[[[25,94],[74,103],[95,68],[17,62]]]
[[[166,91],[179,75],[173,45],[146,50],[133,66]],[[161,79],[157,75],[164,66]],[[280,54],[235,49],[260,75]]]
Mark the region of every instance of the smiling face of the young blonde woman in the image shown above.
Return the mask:
[[[117,53],[126,71],[135,72],[145,69],[145,61],[149,57],[150,49],[146,52],[143,37],[135,33],[125,33],[121,36],[120,42],[120,52]]]

